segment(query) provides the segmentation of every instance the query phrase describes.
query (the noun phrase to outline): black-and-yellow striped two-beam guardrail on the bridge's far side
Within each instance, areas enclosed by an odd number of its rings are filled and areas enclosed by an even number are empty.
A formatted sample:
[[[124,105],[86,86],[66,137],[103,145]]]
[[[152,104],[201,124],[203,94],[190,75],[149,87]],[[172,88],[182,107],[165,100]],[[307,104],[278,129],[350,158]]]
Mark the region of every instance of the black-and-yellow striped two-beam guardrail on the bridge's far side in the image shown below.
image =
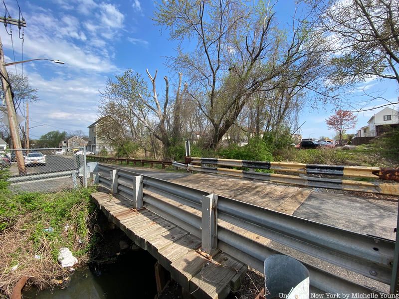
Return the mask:
[[[173,162],[172,164],[189,171],[267,180],[302,187],[399,195],[398,168],[321,165],[200,157],[193,157],[190,160],[193,164],[182,164],[178,162]],[[225,168],[225,166],[241,169]],[[249,168],[249,170],[245,170],[247,168]],[[283,173],[288,172],[297,175],[256,172],[256,169],[273,170],[273,172]],[[355,179],[341,179],[340,177]],[[368,179],[369,181],[364,181],[364,179]]]

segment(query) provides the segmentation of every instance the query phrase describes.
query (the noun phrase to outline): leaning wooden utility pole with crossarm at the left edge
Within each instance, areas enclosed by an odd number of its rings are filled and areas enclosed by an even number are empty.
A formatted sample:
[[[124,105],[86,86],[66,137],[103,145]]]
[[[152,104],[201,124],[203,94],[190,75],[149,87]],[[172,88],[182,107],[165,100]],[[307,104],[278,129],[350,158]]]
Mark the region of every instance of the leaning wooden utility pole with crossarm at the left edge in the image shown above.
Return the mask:
[[[26,22],[24,20],[20,21],[11,18],[0,18],[0,22],[8,24],[15,24],[16,22],[18,26],[26,27]],[[18,165],[19,174],[26,174],[25,163],[21,150],[22,146],[21,146],[21,139],[19,137],[18,122],[16,121],[14,100],[12,99],[11,86],[8,84],[9,79],[8,79],[7,70],[5,69],[3,44],[1,42],[1,38],[0,38],[0,72],[1,72],[0,74],[1,82],[4,91],[5,105],[7,107],[7,113],[8,113],[9,133],[11,135],[13,148],[16,149],[15,151],[16,163]]]

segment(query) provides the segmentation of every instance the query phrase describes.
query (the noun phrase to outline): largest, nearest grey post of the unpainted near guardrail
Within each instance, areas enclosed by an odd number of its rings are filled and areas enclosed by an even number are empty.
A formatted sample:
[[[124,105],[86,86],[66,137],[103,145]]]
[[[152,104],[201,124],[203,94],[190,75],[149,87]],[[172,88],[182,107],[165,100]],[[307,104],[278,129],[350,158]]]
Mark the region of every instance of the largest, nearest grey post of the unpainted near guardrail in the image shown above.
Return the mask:
[[[201,242],[202,251],[211,254],[217,249],[217,195],[202,196]]]

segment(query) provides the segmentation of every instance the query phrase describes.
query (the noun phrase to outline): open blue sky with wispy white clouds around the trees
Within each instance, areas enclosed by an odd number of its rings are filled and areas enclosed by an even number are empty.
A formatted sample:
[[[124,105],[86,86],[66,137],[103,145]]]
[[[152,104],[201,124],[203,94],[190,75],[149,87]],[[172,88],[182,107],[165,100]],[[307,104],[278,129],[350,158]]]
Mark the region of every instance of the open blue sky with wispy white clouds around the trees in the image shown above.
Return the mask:
[[[16,0],[5,0],[11,16],[17,18]],[[97,118],[100,101],[99,90],[106,79],[132,68],[145,74],[158,69],[158,78],[172,77],[166,69],[165,57],[173,56],[176,43],[168,40],[168,32],[152,21],[153,0],[19,0],[27,28],[24,29],[23,59],[50,58],[64,61],[64,65],[49,61],[23,64],[23,73],[32,87],[38,89],[40,101],[29,107],[30,138],[37,139],[49,131],[87,131],[87,126]],[[0,8],[2,14],[3,8]],[[288,21],[294,11],[294,1],[280,0],[275,6],[280,23]],[[11,38],[0,29],[6,62],[22,60],[22,42],[18,29],[13,27]],[[14,66],[8,66],[15,72]],[[22,72],[21,64],[16,68]],[[184,74],[183,74],[184,78]],[[158,89],[164,89],[158,80]],[[398,87],[394,83],[367,80],[351,92],[350,102],[364,109],[398,101]],[[365,103],[364,92],[383,96],[386,100]],[[355,102],[359,102],[355,105]],[[349,108],[343,104],[342,108]],[[333,105],[312,110],[310,104],[300,115],[303,137],[332,137],[325,125]],[[367,124],[378,112],[359,113],[358,128]]]

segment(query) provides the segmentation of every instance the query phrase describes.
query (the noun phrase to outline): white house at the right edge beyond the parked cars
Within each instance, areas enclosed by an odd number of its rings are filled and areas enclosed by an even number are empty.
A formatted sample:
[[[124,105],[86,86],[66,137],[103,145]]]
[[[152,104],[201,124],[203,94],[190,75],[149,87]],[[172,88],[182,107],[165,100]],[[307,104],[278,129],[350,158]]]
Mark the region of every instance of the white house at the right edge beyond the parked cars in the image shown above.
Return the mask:
[[[383,126],[399,126],[399,112],[386,107],[373,115],[368,121],[368,125],[358,130],[357,137],[375,137],[384,133]]]

